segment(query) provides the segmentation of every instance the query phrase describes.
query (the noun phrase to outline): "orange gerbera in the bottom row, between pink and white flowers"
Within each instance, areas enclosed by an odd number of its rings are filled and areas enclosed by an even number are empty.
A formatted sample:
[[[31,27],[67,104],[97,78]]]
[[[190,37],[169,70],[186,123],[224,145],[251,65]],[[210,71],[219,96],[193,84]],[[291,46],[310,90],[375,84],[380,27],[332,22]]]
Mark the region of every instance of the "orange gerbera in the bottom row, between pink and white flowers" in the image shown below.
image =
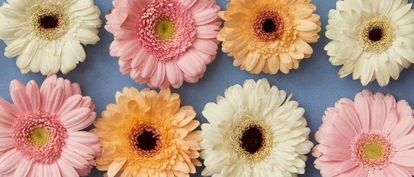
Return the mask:
[[[125,87],[116,94],[117,104],[106,106],[103,118],[92,129],[101,138],[102,156],[97,169],[114,176],[188,176],[201,166],[200,132],[193,107],[180,107],[170,89]]]

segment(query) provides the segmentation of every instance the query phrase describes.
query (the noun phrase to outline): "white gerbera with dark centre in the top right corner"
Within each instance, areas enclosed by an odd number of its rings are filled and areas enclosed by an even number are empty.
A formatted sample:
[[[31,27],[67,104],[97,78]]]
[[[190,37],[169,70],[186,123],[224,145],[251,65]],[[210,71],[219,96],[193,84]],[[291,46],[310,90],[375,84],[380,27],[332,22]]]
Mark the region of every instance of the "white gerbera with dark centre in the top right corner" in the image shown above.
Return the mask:
[[[325,50],[339,76],[353,73],[362,85],[388,85],[414,63],[414,10],[406,0],[337,1],[329,12]]]

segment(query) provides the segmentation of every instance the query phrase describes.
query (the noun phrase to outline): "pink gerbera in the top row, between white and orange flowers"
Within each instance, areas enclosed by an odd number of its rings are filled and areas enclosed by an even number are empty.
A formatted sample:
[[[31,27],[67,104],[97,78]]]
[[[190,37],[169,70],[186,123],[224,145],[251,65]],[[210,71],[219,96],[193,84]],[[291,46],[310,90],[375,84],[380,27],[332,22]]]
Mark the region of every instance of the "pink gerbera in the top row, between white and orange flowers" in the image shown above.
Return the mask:
[[[195,83],[217,54],[221,21],[214,0],[117,0],[105,26],[122,74],[150,87]]]

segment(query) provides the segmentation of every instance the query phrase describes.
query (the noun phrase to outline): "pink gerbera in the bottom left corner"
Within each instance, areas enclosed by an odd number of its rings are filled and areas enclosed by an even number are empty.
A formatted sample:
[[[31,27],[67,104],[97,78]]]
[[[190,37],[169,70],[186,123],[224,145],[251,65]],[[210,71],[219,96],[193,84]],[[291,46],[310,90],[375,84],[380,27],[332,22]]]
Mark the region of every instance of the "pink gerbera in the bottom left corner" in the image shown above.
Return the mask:
[[[14,105],[0,98],[0,176],[88,176],[99,138],[81,132],[97,114],[77,83],[49,76],[39,86],[10,83]]]

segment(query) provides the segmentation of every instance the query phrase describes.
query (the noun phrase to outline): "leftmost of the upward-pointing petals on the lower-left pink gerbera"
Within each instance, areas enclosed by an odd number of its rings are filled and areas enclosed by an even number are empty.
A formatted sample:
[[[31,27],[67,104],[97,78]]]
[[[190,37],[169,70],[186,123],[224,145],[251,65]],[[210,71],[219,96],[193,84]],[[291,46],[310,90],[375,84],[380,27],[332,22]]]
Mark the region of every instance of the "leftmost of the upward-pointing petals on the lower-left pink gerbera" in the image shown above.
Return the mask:
[[[23,84],[17,80],[12,81],[10,83],[10,95],[12,96],[14,105],[16,105],[21,113],[32,113],[32,106],[30,105],[28,96],[26,96],[26,87]]]

